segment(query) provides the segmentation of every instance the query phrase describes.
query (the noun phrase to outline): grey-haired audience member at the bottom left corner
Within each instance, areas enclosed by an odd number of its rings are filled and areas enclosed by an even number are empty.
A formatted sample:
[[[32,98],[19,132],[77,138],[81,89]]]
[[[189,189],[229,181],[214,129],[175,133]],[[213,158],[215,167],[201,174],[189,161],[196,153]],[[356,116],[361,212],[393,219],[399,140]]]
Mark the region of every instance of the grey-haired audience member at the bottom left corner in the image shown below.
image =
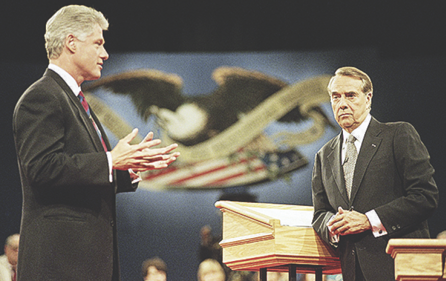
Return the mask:
[[[5,254],[0,256],[0,281],[16,281],[19,234],[9,236],[5,241]]]

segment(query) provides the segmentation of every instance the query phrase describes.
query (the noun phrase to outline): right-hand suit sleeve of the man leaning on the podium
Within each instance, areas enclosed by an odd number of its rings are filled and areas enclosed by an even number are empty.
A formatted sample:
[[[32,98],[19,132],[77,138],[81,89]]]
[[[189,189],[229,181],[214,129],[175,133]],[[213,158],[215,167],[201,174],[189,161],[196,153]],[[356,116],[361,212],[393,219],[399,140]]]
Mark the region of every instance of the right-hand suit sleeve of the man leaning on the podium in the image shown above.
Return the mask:
[[[395,131],[393,151],[405,196],[375,210],[389,236],[401,237],[433,214],[438,189],[429,153],[412,125],[402,123]]]

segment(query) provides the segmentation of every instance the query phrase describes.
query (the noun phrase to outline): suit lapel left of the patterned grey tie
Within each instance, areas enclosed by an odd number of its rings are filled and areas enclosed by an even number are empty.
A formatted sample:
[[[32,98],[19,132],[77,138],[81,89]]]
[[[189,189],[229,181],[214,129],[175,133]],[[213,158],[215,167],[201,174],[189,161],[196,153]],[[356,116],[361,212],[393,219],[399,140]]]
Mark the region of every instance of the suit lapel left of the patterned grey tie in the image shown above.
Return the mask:
[[[345,203],[348,204],[349,197],[347,196],[347,191],[345,189],[345,181],[341,166],[341,148],[342,148],[341,139],[342,139],[342,133],[339,134],[339,136],[333,140],[333,143],[330,146],[332,151],[330,152],[327,158],[330,163],[331,172],[333,174],[333,178],[336,182],[336,186],[339,190],[339,193],[341,194],[341,197],[345,201]]]

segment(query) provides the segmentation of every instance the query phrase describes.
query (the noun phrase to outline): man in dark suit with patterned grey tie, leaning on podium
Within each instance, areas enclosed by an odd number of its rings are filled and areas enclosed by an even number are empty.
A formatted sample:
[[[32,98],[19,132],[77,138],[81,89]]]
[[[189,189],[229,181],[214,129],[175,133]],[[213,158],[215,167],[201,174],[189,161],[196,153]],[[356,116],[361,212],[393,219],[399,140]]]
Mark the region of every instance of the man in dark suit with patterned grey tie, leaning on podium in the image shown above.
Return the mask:
[[[438,204],[428,151],[410,124],[370,115],[373,87],[359,69],[339,68],[328,91],[342,132],[315,157],[313,228],[339,250],[344,281],[394,280],[388,240],[429,238]]]

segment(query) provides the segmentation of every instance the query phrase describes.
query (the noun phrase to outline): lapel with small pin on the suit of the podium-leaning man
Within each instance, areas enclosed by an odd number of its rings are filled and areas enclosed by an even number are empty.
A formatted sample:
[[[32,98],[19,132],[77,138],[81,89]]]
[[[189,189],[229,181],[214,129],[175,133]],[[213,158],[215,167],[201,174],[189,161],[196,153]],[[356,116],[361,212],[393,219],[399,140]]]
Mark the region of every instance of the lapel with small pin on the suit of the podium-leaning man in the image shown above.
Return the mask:
[[[364,173],[370,164],[371,159],[375,156],[378,148],[380,147],[382,138],[379,137],[381,129],[378,121],[372,118],[370,124],[365,132],[364,139],[362,141],[361,149],[356,160],[355,172],[353,175],[352,194],[350,196],[350,202],[353,202],[356,193],[358,192],[361,181],[364,177]]]

